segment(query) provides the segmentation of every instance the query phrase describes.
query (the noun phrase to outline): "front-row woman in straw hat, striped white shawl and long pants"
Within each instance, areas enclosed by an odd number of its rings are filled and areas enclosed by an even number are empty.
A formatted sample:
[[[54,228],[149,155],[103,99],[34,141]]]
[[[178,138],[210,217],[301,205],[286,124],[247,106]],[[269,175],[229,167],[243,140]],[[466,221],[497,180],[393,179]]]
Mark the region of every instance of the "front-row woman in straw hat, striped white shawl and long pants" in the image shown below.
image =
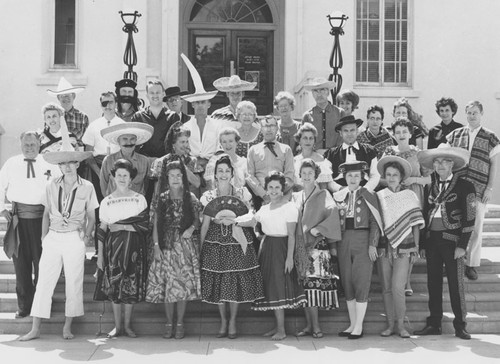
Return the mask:
[[[377,168],[387,182],[387,188],[377,192],[386,236],[383,244],[379,243],[377,261],[387,320],[387,328],[380,335],[398,332],[400,337],[409,338],[404,327],[405,284],[409,267],[418,257],[424,218],[415,193],[401,184],[411,175],[410,163],[401,157],[385,156]]]

